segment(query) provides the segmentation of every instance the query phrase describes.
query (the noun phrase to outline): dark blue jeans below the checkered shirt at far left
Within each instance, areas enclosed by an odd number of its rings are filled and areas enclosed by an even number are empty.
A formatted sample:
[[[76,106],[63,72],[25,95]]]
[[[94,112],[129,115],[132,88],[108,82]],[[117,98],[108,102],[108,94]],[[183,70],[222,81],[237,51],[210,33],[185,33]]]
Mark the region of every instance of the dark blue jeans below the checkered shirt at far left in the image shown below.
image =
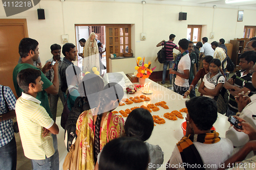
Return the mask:
[[[16,140],[13,136],[12,140],[0,148],[0,169],[16,170],[17,164],[17,148]]]

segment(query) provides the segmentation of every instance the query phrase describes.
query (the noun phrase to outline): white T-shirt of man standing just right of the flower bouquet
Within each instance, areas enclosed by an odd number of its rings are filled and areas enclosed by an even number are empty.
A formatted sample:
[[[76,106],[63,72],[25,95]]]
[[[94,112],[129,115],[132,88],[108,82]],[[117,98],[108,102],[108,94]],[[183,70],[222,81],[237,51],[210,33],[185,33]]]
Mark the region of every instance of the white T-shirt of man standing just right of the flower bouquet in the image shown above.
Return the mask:
[[[190,57],[189,54],[186,54],[185,56],[181,57],[180,62],[178,64],[178,72],[181,74],[184,74],[184,70],[188,69],[190,70]],[[175,84],[180,87],[189,87],[188,79],[181,78],[179,76],[176,76]]]

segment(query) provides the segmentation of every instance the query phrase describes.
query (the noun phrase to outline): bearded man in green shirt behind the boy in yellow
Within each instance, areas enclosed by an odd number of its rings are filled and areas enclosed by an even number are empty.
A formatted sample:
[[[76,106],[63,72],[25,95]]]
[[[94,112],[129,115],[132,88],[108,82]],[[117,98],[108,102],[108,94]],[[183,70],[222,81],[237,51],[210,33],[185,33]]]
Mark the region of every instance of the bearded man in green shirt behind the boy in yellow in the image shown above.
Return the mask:
[[[34,68],[38,69],[37,67],[33,66],[33,62],[38,59],[39,51],[38,51],[38,42],[31,38],[23,38],[18,46],[18,52],[20,57],[22,58],[22,63],[19,63],[16,65],[16,67],[13,70],[13,84],[14,88],[16,90],[16,93],[19,96],[22,95],[23,90],[19,88],[17,83],[17,74],[20,70],[26,69],[26,68]],[[50,68],[53,68],[54,70],[54,79],[52,83],[46,78],[45,74],[47,71],[49,71]],[[53,66],[51,66],[51,63],[46,63],[44,67],[42,67],[41,70],[41,80],[44,82],[43,90],[41,92],[37,93],[36,99],[41,101],[41,106],[44,107],[47,111],[47,113],[52,117],[52,113],[50,110],[49,102],[48,102],[48,96],[47,93],[50,94],[58,94],[59,91],[59,76],[58,76],[58,62],[56,62]],[[46,133],[49,133],[47,129],[45,129]],[[57,146],[57,137],[56,135],[53,136],[53,144],[54,144],[54,166],[59,169],[59,154],[58,154],[58,146]]]

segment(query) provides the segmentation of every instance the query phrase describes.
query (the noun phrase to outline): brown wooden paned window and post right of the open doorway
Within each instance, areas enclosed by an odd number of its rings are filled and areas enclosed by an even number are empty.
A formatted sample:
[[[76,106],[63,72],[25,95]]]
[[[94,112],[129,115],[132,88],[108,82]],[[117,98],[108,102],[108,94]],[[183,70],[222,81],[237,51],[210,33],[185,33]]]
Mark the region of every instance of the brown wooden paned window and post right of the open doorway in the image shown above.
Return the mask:
[[[109,72],[110,54],[122,57],[131,49],[131,25],[106,25],[106,70]],[[129,50],[131,53],[131,50]]]

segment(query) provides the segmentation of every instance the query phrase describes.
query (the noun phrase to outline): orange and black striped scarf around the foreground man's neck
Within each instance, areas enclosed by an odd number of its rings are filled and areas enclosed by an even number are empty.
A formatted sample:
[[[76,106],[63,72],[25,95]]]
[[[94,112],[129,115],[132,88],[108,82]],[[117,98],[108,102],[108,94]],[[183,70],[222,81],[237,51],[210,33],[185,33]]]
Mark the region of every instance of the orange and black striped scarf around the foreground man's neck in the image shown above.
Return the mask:
[[[182,162],[187,163],[190,165],[201,165],[201,168],[197,169],[205,169],[203,168],[203,160],[197,150],[197,148],[194,145],[194,141],[205,143],[205,144],[212,144],[217,143],[221,140],[219,137],[219,133],[215,131],[211,131],[211,133],[205,133],[205,134],[198,134],[198,135],[189,135],[188,137],[183,137],[178,143],[177,147],[179,149]],[[188,166],[184,166],[184,168],[191,169]]]

